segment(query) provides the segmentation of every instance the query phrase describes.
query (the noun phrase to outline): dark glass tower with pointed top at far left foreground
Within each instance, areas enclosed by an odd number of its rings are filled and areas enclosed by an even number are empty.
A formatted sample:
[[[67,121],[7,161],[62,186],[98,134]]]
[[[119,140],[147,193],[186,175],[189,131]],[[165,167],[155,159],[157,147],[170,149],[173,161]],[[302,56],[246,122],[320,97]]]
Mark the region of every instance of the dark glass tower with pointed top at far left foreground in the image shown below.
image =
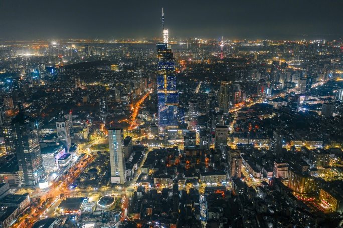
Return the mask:
[[[35,185],[43,176],[43,159],[37,129],[24,115],[21,104],[19,114],[12,120],[11,126],[19,171],[24,176],[25,185]]]

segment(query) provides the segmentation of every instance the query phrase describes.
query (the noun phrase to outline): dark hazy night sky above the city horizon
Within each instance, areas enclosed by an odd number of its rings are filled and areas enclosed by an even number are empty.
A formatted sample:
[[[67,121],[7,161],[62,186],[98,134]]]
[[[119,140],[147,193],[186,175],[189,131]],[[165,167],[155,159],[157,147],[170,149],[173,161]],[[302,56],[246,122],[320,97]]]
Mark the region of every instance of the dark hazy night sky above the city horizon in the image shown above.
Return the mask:
[[[343,37],[343,0],[0,0],[0,38]]]

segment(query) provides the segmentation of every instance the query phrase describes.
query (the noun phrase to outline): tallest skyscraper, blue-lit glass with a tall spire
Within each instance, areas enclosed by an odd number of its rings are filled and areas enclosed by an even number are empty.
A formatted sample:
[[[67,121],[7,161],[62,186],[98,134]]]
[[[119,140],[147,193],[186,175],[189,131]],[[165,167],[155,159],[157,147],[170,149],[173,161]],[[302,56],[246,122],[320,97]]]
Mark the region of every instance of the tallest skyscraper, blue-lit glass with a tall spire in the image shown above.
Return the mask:
[[[168,42],[164,40],[164,36],[163,42],[157,43],[158,126],[177,127],[179,124],[179,93],[176,90],[175,59]]]

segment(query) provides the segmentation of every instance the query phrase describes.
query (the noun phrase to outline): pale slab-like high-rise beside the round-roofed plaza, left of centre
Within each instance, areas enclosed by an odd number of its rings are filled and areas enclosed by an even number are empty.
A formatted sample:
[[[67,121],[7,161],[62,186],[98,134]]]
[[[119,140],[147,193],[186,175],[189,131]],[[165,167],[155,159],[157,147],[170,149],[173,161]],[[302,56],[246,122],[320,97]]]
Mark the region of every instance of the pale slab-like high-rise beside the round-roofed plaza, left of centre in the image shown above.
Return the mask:
[[[111,182],[124,184],[126,180],[123,129],[108,129]]]

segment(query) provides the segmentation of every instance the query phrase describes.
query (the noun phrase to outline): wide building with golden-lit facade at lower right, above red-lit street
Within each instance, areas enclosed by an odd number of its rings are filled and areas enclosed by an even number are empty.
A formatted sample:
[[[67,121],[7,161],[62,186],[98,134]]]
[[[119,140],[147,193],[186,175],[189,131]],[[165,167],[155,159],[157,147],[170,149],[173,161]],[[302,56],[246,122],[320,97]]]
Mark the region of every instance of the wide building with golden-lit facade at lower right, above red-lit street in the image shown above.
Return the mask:
[[[288,187],[299,194],[310,194],[315,191],[315,179],[300,171],[289,171]]]

